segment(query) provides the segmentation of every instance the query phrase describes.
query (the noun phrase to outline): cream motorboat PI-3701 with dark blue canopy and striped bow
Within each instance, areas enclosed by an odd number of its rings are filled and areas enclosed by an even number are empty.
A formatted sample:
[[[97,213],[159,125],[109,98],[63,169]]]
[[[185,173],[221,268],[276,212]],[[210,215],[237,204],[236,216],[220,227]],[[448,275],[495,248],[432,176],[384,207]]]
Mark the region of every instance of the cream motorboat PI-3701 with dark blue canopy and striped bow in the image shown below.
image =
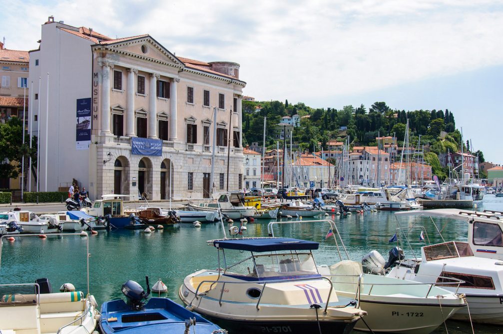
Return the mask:
[[[225,268],[188,275],[179,297],[189,310],[219,320],[229,331],[308,333],[319,326],[342,334],[366,314],[318,273],[311,253],[317,242],[260,237],[208,243],[218,249],[218,266]],[[221,255],[232,250],[250,256],[229,264]]]

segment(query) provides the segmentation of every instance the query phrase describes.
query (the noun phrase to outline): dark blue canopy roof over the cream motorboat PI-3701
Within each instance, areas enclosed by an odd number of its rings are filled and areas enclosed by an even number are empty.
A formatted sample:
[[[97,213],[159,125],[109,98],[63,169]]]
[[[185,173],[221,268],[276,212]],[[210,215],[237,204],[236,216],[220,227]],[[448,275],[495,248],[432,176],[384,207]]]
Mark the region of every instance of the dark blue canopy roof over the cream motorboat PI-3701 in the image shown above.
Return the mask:
[[[318,249],[318,242],[293,238],[244,238],[215,240],[217,248],[247,250],[248,252],[274,252],[275,250]]]

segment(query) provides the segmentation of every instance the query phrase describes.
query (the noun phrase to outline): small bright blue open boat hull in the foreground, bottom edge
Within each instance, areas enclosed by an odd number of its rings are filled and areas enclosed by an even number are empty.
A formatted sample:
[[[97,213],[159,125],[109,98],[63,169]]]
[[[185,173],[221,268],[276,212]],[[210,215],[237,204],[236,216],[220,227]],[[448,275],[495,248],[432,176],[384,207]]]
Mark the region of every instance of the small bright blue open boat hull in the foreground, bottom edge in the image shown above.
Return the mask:
[[[100,331],[106,333],[154,334],[183,333],[185,320],[196,318],[196,332],[211,334],[220,327],[201,315],[191,312],[168,298],[150,298],[139,311],[131,309],[123,300],[112,300],[101,307]],[[192,332],[193,328],[190,328]]]

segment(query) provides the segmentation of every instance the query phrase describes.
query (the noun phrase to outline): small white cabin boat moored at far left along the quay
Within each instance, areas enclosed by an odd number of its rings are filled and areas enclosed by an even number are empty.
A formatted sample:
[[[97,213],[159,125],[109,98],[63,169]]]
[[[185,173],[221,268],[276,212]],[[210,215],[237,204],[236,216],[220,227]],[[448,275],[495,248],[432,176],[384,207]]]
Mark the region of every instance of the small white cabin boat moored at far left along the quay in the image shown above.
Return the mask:
[[[0,213],[0,215],[4,217],[7,215],[7,219],[0,218],[0,223],[4,222],[8,224],[14,221],[18,226],[23,228],[22,233],[59,233],[64,225],[64,223],[55,217],[43,217],[41,219],[34,212],[20,210],[19,208]]]

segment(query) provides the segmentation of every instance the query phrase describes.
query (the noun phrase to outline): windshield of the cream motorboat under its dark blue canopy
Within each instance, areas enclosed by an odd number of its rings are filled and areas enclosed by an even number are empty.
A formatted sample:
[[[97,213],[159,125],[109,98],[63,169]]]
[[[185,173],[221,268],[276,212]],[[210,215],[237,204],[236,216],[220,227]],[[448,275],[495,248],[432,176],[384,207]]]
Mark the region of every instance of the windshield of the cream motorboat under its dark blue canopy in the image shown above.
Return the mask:
[[[254,255],[227,268],[228,274],[229,270],[234,275],[256,278],[318,274],[311,253]]]

